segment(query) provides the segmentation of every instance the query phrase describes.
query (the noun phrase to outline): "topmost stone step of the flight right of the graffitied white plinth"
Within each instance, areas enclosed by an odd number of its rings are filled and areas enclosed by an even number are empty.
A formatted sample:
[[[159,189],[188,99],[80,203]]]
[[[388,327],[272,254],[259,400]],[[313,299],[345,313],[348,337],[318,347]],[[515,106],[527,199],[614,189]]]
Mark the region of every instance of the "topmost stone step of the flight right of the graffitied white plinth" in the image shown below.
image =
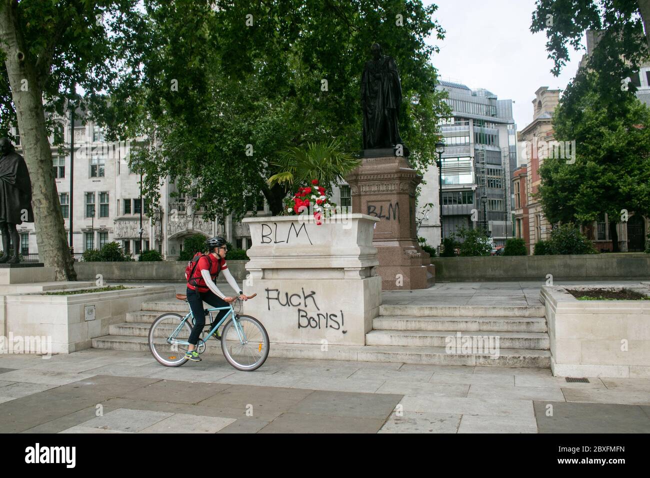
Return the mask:
[[[416,317],[545,317],[543,306],[382,304],[379,315]]]

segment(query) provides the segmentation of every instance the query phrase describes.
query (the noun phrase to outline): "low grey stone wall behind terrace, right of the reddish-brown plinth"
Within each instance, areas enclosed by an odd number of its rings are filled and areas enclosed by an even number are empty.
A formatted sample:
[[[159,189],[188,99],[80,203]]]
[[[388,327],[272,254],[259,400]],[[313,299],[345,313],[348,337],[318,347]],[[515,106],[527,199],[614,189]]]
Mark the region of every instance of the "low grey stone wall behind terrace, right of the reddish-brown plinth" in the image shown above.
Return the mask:
[[[650,254],[431,258],[437,281],[630,280],[650,278]]]

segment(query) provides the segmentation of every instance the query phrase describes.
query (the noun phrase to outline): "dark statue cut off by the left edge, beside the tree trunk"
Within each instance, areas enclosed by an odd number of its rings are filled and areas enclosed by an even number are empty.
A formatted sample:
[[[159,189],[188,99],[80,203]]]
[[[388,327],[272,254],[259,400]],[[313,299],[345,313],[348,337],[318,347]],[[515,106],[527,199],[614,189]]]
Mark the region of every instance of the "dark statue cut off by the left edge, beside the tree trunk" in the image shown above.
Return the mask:
[[[0,263],[18,263],[20,238],[17,224],[34,222],[32,211],[32,183],[25,159],[14,151],[7,138],[0,138],[0,232],[2,232],[3,255]],[[9,237],[14,255],[9,258]]]

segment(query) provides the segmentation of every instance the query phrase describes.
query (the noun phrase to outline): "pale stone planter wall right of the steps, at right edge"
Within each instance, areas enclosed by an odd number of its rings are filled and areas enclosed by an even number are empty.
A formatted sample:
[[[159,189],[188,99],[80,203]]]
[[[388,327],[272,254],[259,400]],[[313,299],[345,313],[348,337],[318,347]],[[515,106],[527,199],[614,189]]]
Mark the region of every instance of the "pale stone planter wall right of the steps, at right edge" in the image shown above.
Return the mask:
[[[578,300],[566,291],[604,287],[542,287],[553,375],[650,377],[650,300]],[[647,285],[627,288],[650,297]]]

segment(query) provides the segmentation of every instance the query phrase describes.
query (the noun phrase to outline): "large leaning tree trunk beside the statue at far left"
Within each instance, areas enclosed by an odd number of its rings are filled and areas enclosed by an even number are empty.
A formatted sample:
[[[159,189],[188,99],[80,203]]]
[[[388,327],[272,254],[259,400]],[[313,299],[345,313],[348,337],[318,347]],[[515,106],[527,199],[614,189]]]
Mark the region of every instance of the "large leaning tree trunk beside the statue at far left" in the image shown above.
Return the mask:
[[[76,280],[45,129],[42,78],[34,58],[26,51],[16,8],[18,2],[0,0],[0,48],[6,55],[5,65],[18,116],[21,145],[32,181],[38,255],[46,266],[54,267],[57,280]]]

